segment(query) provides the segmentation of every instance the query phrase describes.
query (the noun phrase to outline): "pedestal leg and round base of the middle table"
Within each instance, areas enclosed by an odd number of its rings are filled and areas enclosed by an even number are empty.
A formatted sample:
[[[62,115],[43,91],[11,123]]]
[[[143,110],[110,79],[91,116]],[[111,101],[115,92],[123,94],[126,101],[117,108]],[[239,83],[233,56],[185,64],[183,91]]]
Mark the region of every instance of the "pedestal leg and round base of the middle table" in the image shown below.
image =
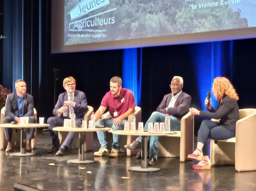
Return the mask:
[[[67,163],[70,164],[90,164],[94,163],[94,160],[84,160],[84,132],[79,132],[79,151],[78,159],[68,160]]]

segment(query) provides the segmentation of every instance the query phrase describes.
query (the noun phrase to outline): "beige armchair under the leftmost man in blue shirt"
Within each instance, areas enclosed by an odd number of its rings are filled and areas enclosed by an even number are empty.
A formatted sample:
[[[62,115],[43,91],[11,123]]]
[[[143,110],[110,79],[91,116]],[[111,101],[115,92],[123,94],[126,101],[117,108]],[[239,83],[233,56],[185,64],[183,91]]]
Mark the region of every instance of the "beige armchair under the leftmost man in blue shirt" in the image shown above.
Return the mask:
[[[1,109],[1,118],[0,118],[0,124],[3,123],[5,117],[5,107]],[[36,109],[34,108],[34,117],[37,121],[37,113]],[[21,147],[21,130],[20,128],[13,129],[12,131],[12,146],[13,147]],[[34,138],[31,141],[31,146],[33,149],[36,148],[36,135],[37,135],[37,129],[35,129]],[[5,140],[5,134],[2,127],[0,127],[0,149],[5,149],[8,145],[7,140]]]

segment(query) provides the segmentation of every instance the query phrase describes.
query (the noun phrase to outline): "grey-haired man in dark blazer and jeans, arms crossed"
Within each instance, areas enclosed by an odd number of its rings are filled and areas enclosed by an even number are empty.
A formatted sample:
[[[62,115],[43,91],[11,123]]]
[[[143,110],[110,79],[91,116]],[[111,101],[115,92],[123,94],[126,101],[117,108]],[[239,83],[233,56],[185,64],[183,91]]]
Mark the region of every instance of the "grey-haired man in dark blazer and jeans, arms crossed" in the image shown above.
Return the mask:
[[[191,96],[182,91],[183,78],[180,76],[174,76],[172,78],[170,88],[172,93],[166,94],[163,100],[157,107],[157,111],[153,112],[150,118],[145,123],[144,129],[148,129],[149,122],[164,122],[166,114],[169,114],[171,121],[171,130],[180,131],[181,118],[188,112],[188,108],[191,104]],[[149,144],[149,165],[155,165],[158,154],[158,136],[150,136]],[[124,146],[127,149],[137,149],[141,147],[141,136],[139,136],[131,144]]]

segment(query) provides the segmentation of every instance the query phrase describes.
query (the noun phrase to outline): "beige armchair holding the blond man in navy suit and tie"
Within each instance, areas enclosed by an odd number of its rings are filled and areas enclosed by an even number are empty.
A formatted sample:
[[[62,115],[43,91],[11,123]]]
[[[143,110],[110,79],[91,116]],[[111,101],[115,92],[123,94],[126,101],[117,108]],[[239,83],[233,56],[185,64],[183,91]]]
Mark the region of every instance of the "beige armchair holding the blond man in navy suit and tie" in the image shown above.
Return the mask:
[[[86,112],[86,114],[84,115],[84,120],[88,121],[91,118],[93,112],[93,107],[88,105],[88,111]],[[68,135],[69,132],[65,132],[65,131],[59,131],[59,139],[60,139],[60,144],[63,143],[63,141],[65,140],[66,136]],[[84,134],[84,151],[90,151],[93,150],[93,132],[86,132]],[[77,133],[73,142],[71,143],[70,147],[71,149],[77,149],[79,148],[79,134]]]

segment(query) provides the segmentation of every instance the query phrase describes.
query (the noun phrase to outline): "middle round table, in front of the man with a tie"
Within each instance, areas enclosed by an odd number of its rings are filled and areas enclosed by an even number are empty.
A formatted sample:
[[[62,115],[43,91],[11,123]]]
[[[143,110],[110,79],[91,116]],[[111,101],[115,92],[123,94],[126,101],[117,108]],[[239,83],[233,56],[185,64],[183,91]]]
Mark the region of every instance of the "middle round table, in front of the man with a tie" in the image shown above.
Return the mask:
[[[79,152],[78,159],[68,160],[67,163],[71,164],[90,164],[96,161],[94,160],[85,160],[84,159],[84,133],[85,132],[95,132],[95,131],[109,131],[111,128],[95,128],[95,129],[82,129],[82,128],[64,128],[64,127],[54,127],[53,131],[72,131],[79,132]]]

